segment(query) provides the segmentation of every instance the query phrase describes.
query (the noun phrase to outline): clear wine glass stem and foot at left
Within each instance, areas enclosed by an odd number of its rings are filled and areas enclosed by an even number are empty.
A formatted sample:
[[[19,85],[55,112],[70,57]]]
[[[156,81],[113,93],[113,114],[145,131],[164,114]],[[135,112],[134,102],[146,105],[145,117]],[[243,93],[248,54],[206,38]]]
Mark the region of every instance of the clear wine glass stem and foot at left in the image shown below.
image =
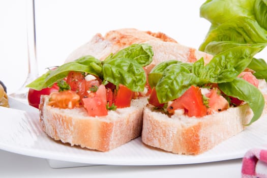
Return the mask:
[[[22,86],[16,92],[9,95],[10,97],[24,103],[27,103],[28,88],[26,85],[38,77],[35,33],[35,0],[26,0],[26,13],[28,74]]]

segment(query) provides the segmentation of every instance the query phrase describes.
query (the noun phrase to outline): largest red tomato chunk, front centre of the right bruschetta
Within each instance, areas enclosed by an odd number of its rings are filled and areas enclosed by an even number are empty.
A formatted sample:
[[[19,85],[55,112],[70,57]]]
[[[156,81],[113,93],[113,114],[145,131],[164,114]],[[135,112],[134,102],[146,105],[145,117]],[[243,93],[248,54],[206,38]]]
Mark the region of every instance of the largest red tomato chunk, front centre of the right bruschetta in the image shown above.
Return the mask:
[[[173,114],[175,109],[184,109],[185,113],[190,117],[206,115],[207,109],[203,104],[200,88],[192,85],[181,97],[170,104],[167,111]]]

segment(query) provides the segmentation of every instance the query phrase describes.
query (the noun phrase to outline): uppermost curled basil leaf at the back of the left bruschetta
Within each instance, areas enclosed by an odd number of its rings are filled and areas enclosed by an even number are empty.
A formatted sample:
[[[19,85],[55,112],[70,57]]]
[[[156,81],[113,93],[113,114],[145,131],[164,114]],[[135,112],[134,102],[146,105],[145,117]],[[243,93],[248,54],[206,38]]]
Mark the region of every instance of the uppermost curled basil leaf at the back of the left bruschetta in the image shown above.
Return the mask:
[[[105,61],[114,58],[130,58],[135,60],[141,66],[147,66],[152,62],[154,55],[152,46],[149,44],[132,44],[127,48],[118,51],[115,54],[109,55]]]

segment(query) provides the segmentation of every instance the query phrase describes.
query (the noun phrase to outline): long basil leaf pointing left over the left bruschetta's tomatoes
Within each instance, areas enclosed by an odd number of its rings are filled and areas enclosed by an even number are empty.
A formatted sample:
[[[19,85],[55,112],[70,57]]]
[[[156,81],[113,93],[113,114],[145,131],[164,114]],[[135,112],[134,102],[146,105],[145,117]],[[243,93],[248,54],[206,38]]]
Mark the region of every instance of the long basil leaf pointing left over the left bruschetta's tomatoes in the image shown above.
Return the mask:
[[[27,87],[34,88],[35,90],[42,90],[43,88],[50,87],[55,82],[64,79],[70,71],[86,72],[89,74],[101,76],[101,65],[101,61],[97,60],[97,58],[90,55],[83,56],[73,62],[62,65],[55,70],[46,72],[32,83],[29,83]]]

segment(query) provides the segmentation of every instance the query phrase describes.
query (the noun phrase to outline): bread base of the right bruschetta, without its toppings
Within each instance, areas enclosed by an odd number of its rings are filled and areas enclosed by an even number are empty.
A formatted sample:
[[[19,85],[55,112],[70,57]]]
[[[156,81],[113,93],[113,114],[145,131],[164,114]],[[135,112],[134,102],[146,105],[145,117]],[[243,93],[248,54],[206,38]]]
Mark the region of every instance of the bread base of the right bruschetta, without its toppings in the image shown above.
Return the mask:
[[[267,111],[266,82],[260,88],[265,99],[263,114]],[[142,141],[150,146],[175,154],[197,155],[242,132],[253,116],[248,104],[201,118],[172,115],[144,108]]]

